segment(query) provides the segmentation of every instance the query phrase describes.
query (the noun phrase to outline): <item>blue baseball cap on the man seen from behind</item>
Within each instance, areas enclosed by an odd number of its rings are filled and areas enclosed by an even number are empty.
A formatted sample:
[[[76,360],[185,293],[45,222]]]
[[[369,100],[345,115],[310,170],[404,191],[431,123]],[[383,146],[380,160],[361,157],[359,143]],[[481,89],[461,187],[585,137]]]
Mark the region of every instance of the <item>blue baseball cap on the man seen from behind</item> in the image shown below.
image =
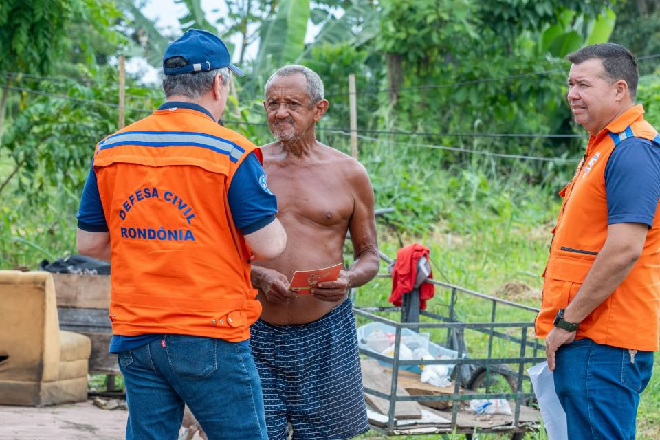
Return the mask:
[[[165,61],[173,56],[182,56],[188,65],[165,67]],[[163,55],[163,73],[166,75],[205,72],[229,67],[234,74],[243,76],[243,71],[232,64],[229,50],[219,36],[201,29],[187,30],[179,39],[168,44]]]

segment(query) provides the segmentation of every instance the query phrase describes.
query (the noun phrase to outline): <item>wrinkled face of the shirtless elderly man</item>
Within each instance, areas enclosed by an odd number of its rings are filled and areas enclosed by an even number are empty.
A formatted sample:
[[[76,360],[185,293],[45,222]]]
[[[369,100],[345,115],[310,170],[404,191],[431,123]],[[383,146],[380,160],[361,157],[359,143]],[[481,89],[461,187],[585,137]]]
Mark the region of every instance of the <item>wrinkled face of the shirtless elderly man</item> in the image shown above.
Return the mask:
[[[307,94],[307,78],[303,74],[276,76],[270,83],[264,102],[268,125],[281,141],[303,137],[316,123],[316,106]]]

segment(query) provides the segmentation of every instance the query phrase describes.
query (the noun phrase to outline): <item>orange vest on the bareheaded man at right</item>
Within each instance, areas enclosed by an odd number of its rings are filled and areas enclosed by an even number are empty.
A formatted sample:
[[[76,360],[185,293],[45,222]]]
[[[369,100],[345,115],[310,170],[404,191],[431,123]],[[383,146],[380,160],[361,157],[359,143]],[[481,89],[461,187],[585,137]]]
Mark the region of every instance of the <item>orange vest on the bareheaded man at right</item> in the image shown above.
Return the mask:
[[[628,109],[597,135],[589,137],[586,155],[575,176],[560,192],[564,197],[553,229],[550,256],[543,274],[541,310],[536,335],[553,328],[558,309],[575,298],[607,238],[605,167],[615,146],[641,137],[660,146],[660,136],[643,119],[644,109]],[[624,281],[577,329],[576,339],[626,349],[656,351],[660,318],[660,210],[656,208],[641,256]]]

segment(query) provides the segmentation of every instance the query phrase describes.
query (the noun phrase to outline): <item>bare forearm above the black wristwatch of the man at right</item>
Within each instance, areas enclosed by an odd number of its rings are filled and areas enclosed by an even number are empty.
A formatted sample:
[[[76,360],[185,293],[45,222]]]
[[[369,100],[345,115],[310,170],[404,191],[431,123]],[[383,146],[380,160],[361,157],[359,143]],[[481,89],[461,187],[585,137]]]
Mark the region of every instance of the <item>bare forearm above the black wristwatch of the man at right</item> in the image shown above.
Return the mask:
[[[566,307],[564,319],[568,322],[582,322],[624,281],[637,258],[639,254],[635,252],[620,252],[606,243],[584,279],[582,287]]]

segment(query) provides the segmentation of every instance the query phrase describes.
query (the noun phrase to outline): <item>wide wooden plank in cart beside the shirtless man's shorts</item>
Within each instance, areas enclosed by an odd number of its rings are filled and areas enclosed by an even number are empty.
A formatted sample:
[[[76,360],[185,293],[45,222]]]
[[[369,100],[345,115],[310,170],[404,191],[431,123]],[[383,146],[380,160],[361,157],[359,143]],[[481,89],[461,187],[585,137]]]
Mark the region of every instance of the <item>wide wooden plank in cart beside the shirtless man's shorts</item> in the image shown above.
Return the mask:
[[[389,394],[392,389],[392,375],[389,374],[384,366],[378,364],[375,360],[361,360],[362,384],[366,388]],[[409,396],[408,392],[402,387],[397,386],[397,396]],[[382,397],[376,397],[364,393],[366,401],[373,406],[377,412],[388,415],[390,402]],[[397,401],[394,417],[397,419],[421,419],[421,408],[415,401]]]

